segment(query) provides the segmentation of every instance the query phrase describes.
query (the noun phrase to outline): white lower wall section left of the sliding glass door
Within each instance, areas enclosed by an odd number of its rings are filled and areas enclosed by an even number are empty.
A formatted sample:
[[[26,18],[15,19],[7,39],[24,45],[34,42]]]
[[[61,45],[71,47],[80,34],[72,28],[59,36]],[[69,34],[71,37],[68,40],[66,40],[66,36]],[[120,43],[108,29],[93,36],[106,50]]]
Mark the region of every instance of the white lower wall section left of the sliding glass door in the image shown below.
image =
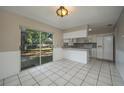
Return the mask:
[[[0,79],[19,73],[20,52],[0,52]]]

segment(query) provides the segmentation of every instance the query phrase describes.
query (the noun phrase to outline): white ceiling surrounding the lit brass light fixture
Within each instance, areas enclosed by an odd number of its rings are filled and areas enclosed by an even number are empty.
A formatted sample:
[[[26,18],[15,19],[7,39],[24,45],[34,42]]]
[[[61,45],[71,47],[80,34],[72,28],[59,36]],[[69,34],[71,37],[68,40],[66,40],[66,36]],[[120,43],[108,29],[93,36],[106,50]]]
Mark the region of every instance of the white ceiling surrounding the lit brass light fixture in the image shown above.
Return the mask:
[[[69,15],[63,18],[56,15],[58,6],[1,6],[34,20],[52,25],[59,29],[68,29],[81,25],[115,24],[123,7],[121,6],[69,6]]]

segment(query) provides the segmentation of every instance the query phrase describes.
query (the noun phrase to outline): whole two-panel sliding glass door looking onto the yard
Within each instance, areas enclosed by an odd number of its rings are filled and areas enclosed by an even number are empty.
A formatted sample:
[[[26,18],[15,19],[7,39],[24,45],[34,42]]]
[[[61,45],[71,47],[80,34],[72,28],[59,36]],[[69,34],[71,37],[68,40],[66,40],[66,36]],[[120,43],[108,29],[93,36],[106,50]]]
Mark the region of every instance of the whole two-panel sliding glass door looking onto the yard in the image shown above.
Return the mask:
[[[53,35],[31,29],[21,31],[21,70],[52,62]]]

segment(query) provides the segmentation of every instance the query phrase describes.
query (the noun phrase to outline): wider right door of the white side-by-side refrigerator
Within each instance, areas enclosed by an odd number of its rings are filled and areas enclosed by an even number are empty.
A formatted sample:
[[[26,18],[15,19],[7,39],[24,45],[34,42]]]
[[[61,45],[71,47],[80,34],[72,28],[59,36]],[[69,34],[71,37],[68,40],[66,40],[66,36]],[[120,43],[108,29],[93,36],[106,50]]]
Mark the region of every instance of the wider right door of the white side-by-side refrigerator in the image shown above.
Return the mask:
[[[104,59],[113,60],[113,36],[104,36]]]

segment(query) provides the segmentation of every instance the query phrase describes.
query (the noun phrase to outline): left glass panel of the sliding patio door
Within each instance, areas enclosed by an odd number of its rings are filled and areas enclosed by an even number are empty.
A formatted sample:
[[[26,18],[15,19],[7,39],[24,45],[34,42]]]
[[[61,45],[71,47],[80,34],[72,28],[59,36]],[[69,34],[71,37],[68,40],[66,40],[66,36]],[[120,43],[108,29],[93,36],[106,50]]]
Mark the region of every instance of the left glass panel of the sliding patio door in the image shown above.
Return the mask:
[[[40,65],[40,33],[30,29],[21,32],[21,70]]]

